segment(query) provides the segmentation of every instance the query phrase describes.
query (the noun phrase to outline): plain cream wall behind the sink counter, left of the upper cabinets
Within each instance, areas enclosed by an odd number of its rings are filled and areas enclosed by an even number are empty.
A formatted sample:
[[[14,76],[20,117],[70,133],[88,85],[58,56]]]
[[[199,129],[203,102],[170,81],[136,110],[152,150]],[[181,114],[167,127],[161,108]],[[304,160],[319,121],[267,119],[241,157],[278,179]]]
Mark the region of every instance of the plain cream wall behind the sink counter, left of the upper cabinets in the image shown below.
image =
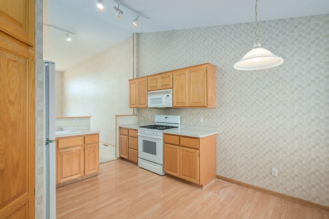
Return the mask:
[[[133,37],[63,72],[62,116],[92,116],[100,141],[115,145],[115,115],[130,115]]]

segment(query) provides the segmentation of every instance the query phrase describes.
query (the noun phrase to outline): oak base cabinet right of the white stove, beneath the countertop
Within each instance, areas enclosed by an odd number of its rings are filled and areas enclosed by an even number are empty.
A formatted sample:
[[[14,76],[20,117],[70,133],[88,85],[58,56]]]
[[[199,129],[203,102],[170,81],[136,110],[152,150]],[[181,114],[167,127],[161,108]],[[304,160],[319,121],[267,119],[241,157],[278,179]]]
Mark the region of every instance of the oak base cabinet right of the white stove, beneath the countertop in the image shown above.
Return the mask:
[[[163,135],[166,174],[205,187],[216,178],[216,135],[204,138]]]

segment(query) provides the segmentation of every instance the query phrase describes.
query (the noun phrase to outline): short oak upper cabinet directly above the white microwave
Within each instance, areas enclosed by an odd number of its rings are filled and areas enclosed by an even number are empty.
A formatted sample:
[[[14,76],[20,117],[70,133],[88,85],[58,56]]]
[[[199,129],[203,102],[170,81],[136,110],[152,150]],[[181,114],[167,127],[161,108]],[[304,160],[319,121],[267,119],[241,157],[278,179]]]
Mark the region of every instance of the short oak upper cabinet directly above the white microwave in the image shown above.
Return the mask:
[[[148,77],[148,91],[173,88],[173,74],[162,73]]]

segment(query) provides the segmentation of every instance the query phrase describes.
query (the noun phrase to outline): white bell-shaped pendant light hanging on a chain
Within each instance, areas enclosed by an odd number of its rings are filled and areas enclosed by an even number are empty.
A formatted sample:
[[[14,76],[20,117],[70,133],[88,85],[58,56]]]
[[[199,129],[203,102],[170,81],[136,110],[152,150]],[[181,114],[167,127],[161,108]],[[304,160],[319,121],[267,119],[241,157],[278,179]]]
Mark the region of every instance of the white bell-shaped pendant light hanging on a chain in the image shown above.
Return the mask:
[[[245,56],[237,63],[234,64],[234,68],[237,70],[260,70],[275,67],[283,63],[281,57],[276,56],[267,49],[262,48],[259,42],[258,35],[258,20],[257,20],[257,1],[255,5],[255,38],[253,40],[253,48],[245,54]]]

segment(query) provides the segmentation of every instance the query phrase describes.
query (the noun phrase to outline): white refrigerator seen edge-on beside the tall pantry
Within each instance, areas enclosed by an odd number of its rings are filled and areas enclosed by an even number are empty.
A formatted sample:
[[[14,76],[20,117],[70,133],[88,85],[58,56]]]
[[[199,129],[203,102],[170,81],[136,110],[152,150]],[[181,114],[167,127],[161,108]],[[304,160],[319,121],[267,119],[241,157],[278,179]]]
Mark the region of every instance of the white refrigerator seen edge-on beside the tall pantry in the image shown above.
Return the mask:
[[[43,62],[43,218],[56,218],[55,63]]]

